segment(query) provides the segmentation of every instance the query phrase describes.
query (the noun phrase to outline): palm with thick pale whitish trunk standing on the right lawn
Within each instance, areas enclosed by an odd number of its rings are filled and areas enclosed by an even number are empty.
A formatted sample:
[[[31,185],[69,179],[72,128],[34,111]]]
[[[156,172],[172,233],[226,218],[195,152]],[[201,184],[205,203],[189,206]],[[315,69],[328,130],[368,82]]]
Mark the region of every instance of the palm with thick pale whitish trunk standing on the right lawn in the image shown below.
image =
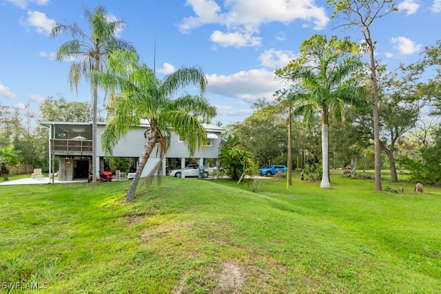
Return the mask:
[[[291,96],[301,102],[295,109],[296,114],[302,114],[305,121],[311,123],[315,112],[322,113],[322,188],[330,187],[329,116],[341,120],[345,105],[365,103],[364,87],[349,78],[351,72],[360,67],[358,59],[349,55],[355,49],[356,43],[348,38],[338,40],[331,36],[328,41],[326,36],[314,35],[303,41],[298,59],[276,71],[278,76],[297,82],[293,86],[296,95]]]

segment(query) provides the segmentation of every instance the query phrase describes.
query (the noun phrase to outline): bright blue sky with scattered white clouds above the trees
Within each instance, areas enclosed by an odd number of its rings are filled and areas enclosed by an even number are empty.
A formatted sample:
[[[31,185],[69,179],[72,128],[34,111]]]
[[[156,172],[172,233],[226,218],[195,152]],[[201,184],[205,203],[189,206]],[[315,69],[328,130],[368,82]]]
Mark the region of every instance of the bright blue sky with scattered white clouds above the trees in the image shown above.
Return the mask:
[[[70,91],[68,61],[57,63],[54,52],[68,36],[50,39],[54,22],[77,23],[83,30],[83,3],[90,10],[105,6],[125,27],[119,36],[154,65],[158,78],[182,66],[199,65],[209,81],[205,96],[216,106],[223,125],[252,114],[258,98],[272,99],[283,88],[274,70],[296,58],[300,43],[311,34],[351,36],[360,30],[338,28],[326,0],[0,0],[0,104],[25,105],[38,118],[48,96],[91,101],[82,81]],[[441,39],[441,0],[398,0],[399,11],[378,19],[371,28],[376,58],[394,70],[400,62],[420,59],[424,47]],[[190,90],[191,92],[192,90]],[[102,97],[101,97],[102,98]]]

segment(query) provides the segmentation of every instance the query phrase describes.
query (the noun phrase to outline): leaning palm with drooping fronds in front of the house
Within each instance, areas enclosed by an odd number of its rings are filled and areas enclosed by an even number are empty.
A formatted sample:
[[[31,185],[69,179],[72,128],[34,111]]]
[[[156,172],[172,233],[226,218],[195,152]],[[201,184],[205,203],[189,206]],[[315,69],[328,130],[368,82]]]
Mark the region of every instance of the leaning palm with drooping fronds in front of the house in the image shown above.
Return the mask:
[[[110,56],[108,65],[107,73],[95,75],[96,83],[112,92],[120,92],[116,98],[114,116],[101,137],[105,152],[112,154],[113,147],[131,126],[139,125],[141,120],[147,120],[149,125],[145,132],[147,144],[125,198],[125,202],[129,202],[134,198],[141,174],[156,143],[161,146],[161,160],[147,176],[147,183],[155,172],[158,176],[162,174],[162,158],[170,147],[170,130],[185,138],[190,154],[193,154],[207,140],[207,133],[199,118],[207,120],[215,113],[214,108],[201,96],[186,94],[172,98],[187,85],[198,85],[201,93],[205,91],[207,78],[199,67],[182,67],[165,76],[161,82],[152,69],[139,64],[136,54],[132,52],[116,50]]]

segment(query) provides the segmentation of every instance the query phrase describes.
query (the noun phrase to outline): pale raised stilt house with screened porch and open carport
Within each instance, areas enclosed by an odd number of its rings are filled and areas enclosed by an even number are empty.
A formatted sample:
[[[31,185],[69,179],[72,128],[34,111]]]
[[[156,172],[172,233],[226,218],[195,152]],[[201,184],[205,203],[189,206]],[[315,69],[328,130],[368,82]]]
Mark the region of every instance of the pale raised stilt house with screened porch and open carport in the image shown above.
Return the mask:
[[[59,180],[69,181],[76,178],[88,178],[88,171],[92,170],[92,123],[43,121],[40,125],[49,130],[48,160],[50,170],[54,166],[54,158],[59,158]],[[104,153],[101,145],[101,134],[104,132],[104,127],[105,123],[98,123],[97,125],[96,166],[99,171],[110,171],[105,160],[108,155]],[[147,143],[145,131],[148,127],[147,123],[132,127],[114,147],[114,157],[129,158],[129,170],[121,170],[121,172],[129,174],[136,171],[140,156]],[[206,166],[207,160],[217,160],[222,140],[221,134],[225,130],[216,125],[204,125],[204,127],[207,131],[207,144],[201,150],[196,150],[192,158],[190,158],[185,140],[172,132],[170,149],[163,158],[164,174],[171,168],[184,169],[185,165],[191,162]],[[154,149],[141,176],[147,176],[158,160],[160,160],[159,152]],[[185,176],[184,172],[182,176]]]

